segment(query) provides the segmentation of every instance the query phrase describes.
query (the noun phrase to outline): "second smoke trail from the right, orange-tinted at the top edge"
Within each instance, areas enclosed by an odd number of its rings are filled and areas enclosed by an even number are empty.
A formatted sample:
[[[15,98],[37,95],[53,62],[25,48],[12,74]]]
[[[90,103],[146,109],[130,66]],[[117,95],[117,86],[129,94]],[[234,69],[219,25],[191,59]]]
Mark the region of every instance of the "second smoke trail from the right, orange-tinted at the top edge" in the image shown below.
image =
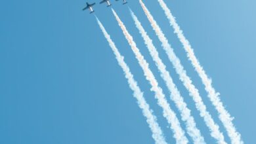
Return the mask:
[[[211,117],[209,112],[206,110],[206,106],[203,103],[202,98],[200,97],[198,89],[192,84],[192,81],[190,80],[188,75],[186,75],[186,71],[184,70],[184,67],[181,65],[179,58],[173,52],[173,48],[171,48],[171,45],[169,44],[165,35],[163,34],[160,27],[154,20],[153,16],[150,14],[150,12],[148,11],[148,9],[146,8],[146,6],[141,0],[140,0],[140,5],[144,10],[148,20],[150,21],[151,26],[156,32],[156,35],[158,35],[158,39],[160,39],[163,49],[167,53],[169,60],[173,63],[173,66],[179,75],[179,79],[183,82],[190,96],[192,96],[193,100],[195,101],[196,108],[198,109],[198,111],[200,111],[200,116],[203,117],[205,124],[207,125],[207,127],[211,132],[211,136],[217,139],[218,143],[226,143],[224,141],[223,134],[219,131],[219,126],[215,124],[213,118]]]

